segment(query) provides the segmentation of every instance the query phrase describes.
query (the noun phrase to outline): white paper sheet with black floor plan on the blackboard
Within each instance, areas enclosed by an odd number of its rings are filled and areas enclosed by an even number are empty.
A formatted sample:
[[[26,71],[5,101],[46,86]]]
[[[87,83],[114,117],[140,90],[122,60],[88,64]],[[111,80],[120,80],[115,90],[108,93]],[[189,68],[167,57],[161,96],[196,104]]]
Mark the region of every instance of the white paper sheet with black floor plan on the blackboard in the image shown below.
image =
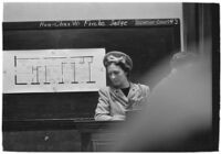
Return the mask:
[[[104,55],[104,48],[6,51],[3,91],[98,90],[106,84]]]

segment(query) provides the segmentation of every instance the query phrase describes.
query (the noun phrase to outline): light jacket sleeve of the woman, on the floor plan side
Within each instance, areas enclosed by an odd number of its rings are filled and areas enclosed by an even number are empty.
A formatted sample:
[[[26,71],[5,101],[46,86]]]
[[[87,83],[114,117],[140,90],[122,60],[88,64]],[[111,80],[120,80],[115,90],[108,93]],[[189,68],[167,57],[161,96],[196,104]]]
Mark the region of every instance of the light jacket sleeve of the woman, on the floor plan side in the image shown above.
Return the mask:
[[[99,98],[98,103],[95,110],[94,119],[96,121],[108,121],[112,120],[112,117],[109,116],[109,99],[108,99],[108,91],[107,89],[101,89],[98,91]]]

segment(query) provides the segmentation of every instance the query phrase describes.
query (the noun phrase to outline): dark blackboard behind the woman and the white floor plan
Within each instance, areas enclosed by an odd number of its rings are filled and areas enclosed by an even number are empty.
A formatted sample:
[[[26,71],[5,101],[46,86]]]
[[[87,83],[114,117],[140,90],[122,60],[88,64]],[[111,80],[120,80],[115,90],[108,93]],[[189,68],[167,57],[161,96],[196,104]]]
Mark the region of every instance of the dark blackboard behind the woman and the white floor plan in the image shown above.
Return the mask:
[[[3,52],[99,47],[128,54],[134,62],[130,79],[140,82],[160,61],[180,51],[179,19],[3,22]],[[143,84],[151,88],[161,77]],[[93,117],[97,97],[97,92],[3,94],[3,120]]]

